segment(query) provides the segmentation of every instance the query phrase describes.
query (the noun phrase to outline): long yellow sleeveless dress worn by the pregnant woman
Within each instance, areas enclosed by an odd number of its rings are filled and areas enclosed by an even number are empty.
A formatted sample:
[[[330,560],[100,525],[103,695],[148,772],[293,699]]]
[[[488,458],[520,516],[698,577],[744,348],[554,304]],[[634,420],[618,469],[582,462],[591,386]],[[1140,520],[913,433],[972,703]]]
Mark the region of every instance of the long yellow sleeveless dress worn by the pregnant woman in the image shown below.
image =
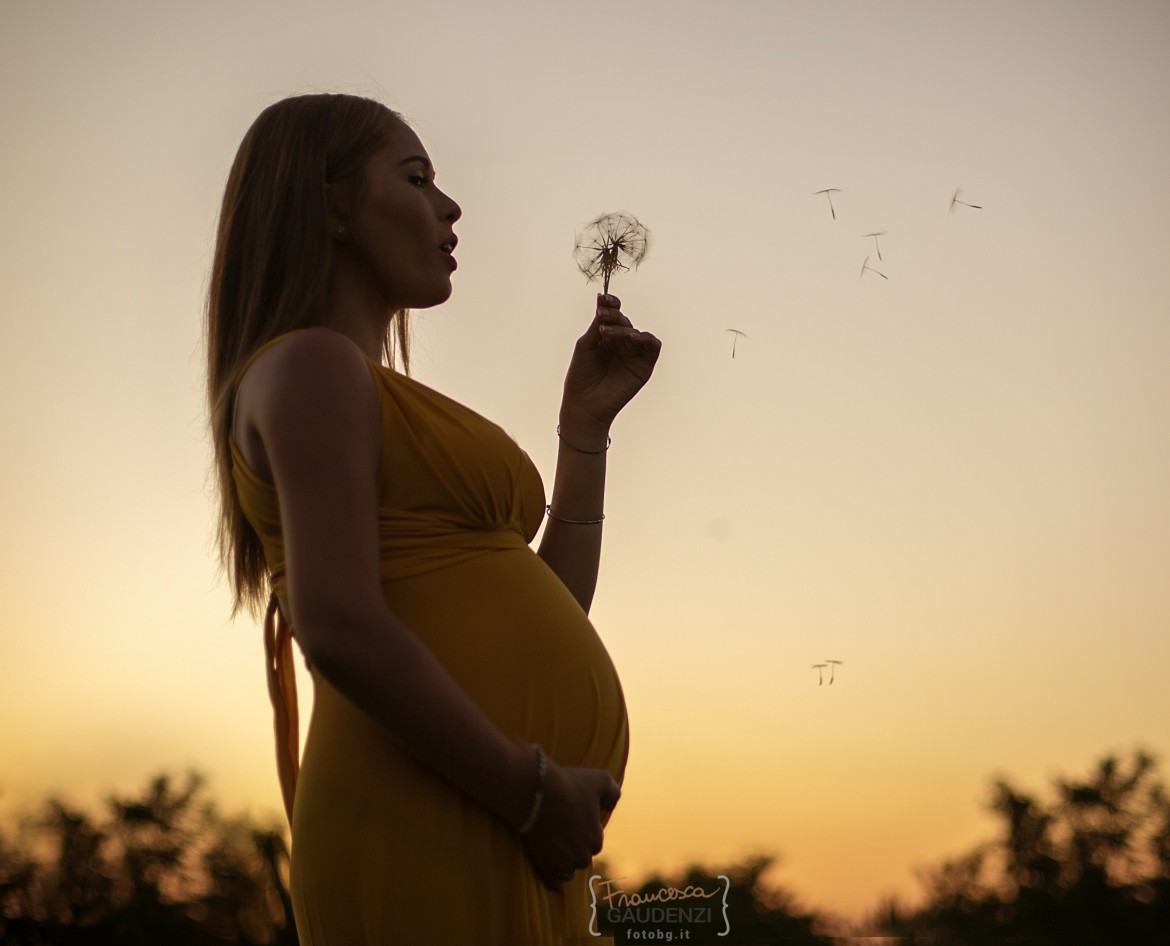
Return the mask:
[[[240,377],[287,337],[257,350]],[[605,768],[620,783],[629,731],[618,675],[577,600],[529,545],[544,515],[539,474],[496,424],[366,360],[383,435],[378,527],[387,606],[505,736],[538,743],[560,765]],[[612,941],[590,932],[591,870],[548,890],[508,826],[414,762],[312,668],[297,775],[292,629],[275,605],[285,591],[276,490],[230,446],[240,504],[263,541],[274,591],[269,686],[301,942]]]

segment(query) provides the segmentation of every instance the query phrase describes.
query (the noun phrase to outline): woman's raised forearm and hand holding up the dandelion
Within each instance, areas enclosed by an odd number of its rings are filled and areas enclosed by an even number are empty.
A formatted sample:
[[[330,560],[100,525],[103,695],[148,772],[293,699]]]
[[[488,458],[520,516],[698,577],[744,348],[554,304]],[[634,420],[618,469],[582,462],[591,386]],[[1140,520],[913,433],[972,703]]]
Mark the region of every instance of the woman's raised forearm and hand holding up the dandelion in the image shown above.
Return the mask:
[[[538,554],[585,612],[601,558],[610,426],[649,380],[661,348],[658,338],[631,325],[617,296],[599,294],[593,323],[577,340],[565,375],[551,512]]]

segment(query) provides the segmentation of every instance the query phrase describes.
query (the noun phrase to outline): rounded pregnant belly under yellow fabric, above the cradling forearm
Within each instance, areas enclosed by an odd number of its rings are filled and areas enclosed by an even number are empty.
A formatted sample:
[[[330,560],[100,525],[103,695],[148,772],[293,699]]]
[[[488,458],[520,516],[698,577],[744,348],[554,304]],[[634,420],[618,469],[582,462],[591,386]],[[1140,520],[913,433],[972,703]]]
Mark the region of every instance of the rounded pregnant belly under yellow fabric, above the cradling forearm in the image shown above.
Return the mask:
[[[531,550],[384,587],[391,609],[508,736],[562,765],[625,773],[621,684],[589,617]]]

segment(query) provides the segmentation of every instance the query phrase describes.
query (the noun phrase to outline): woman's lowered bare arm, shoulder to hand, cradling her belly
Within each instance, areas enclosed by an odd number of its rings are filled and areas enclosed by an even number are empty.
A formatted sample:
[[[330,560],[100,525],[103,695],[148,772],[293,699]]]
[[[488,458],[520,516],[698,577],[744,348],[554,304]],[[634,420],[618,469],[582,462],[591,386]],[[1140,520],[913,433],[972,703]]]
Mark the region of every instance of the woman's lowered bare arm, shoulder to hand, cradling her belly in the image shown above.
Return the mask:
[[[280,496],[289,619],[309,661],[424,766],[514,828],[531,810],[537,760],[501,733],[390,610],[381,593],[369,365],[344,336],[300,332],[253,365],[240,420],[259,437]],[[608,773],[549,766],[548,806],[526,845],[550,871],[587,863]]]

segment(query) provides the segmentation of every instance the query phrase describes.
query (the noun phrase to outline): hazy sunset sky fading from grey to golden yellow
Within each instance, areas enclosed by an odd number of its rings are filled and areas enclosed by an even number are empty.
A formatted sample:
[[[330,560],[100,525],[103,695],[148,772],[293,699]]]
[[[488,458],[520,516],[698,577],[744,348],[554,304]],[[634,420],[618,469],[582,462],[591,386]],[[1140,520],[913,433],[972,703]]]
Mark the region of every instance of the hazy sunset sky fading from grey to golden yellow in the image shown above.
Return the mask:
[[[574,234],[653,230],[612,285],[663,353],[592,614],[611,863],[772,851],[855,914],[987,838],[994,775],[1166,775],[1168,47],[1163,0],[0,0],[0,809],[194,766],[281,816],[201,319],[240,138],[326,90],[402,111],[463,208],[415,377],[548,484]]]

